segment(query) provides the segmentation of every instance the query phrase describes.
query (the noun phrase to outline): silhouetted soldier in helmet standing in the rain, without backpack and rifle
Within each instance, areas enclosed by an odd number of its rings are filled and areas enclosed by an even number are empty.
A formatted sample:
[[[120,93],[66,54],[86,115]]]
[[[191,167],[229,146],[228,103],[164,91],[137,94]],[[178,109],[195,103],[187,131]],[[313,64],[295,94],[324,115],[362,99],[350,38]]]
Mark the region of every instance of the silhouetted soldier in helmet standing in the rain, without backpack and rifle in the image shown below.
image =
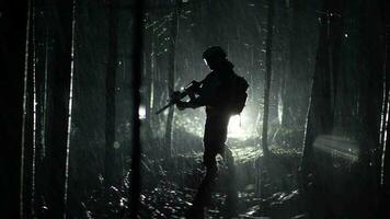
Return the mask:
[[[211,189],[218,175],[216,155],[220,154],[227,164],[229,180],[227,185],[227,198],[223,212],[229,217],[234,214],[237,201],[237,191],[234,181],[234,160],[231,150],[225,145],[228,135],[230,116],[229,102],[231,92],[231,81],[234,76],[233,65],[227,59],[225,50],[219,46],[213,46],[203,54],[206,65],[211,70],[202,81],[199,89],[196,90],[197,96],[191,96],[188,102],[179,101],[179,110],[196,108],[206,106],[206,125],[204,134],[204,155],[203,161],[206,168],[193,206],[186,212],[187,218],[203,218],[204,207],[211,200]]]

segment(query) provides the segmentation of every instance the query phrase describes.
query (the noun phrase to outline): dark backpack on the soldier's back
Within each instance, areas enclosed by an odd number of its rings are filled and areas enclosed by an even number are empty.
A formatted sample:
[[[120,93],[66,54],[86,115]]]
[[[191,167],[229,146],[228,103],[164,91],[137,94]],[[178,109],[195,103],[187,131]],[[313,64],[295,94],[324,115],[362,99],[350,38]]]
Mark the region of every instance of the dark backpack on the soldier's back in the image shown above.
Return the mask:
[[[246,80],[234,73],[231,81],[231,95],[229,101],[229,112],[232,115],[239,115],[245,106],[249,84]]]

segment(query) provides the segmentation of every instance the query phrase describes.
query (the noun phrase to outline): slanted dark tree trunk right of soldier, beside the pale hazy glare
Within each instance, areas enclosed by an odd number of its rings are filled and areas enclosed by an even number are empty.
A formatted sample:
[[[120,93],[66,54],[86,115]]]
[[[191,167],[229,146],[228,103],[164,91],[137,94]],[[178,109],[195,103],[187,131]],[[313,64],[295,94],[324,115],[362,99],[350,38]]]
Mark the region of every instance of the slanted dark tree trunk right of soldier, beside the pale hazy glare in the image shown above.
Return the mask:
[[[317,51],[303,142],[303,155],[300,166],[303,176],[302,185],[308,185],[308,181],[311,181],[318,188],[313,194],[310,194],[312,196],[309,196],[309,198],[313,198],[316,195],[322,197],[319,203],[309,203],[312,217],[329,217],[326,215],[330,207],[329,194],[326,193],[326,186],[322,184],[326,182],[324,178],[326,178],[328,174],[320,172],[318,169],[319,165],[326,165],[329,163],[316,162],[320,158],[322,158],[321,162],[325,162],[326,160],[323,157],[317,155],[313,145],[318,137],[331,135],[333,129],[334,96],[336,94],[334,79],[340,73],[339,48],[342,41],[342,1],[332,0],[323,2],[319,48]],[[307,187],[303,186],[303,188],[306,189]]]

